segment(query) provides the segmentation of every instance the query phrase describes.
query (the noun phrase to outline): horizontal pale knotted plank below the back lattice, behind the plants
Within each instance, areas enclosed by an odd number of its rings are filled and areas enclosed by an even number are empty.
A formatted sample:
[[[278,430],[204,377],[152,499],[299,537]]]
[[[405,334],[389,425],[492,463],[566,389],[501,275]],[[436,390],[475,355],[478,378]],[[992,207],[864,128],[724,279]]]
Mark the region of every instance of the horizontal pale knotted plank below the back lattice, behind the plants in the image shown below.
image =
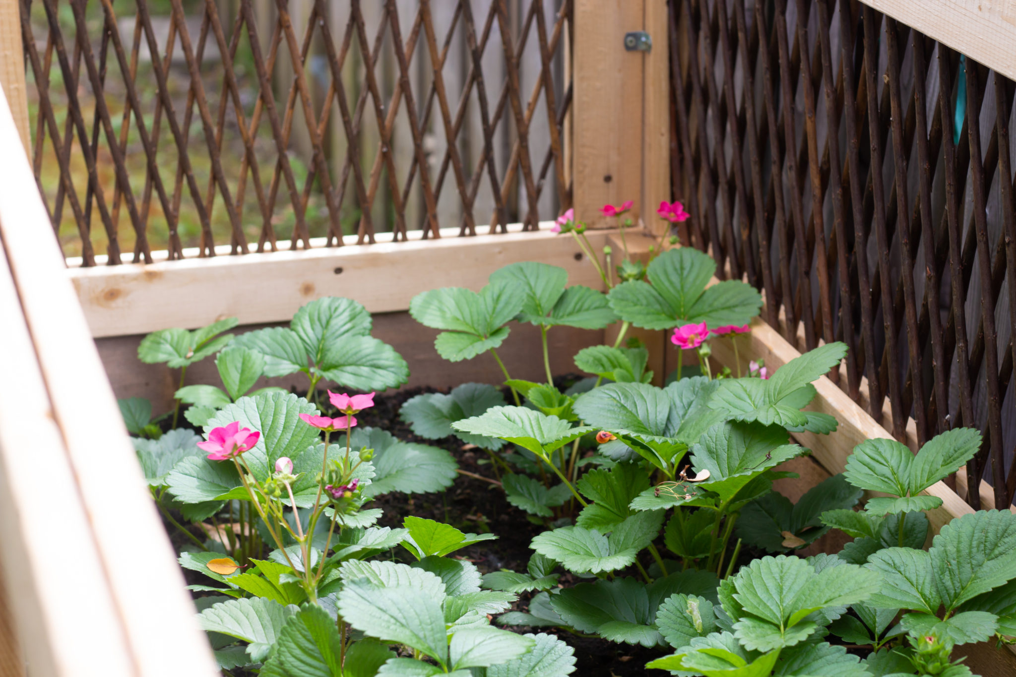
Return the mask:
[[[239,318],[242,325],[284,322],[301,306],[329,295],[353,298],[371,313],[405,311],[421,291],[446,286],[479,290],[492,272],[519,261],[562,266],[569,284],[601,289],[595,267],[574,238],[551,232],[552,225],[545,222],[539,230],[526,232],[195,257],[66,272],[96,338],[200,327],[227,317]],[[458,228],[449,230],[458,233]],[[602,250],[609,232],[587,232],[594,253]]]

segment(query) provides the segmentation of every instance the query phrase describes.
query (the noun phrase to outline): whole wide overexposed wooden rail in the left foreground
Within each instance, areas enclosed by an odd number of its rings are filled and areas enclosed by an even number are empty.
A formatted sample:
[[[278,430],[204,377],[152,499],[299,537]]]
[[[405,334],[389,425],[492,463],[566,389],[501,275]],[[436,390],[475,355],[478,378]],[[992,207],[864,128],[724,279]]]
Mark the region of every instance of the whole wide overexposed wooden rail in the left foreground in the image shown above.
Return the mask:
[[[217,675],[2,92],[0,155],[0,545],[31,674]]]

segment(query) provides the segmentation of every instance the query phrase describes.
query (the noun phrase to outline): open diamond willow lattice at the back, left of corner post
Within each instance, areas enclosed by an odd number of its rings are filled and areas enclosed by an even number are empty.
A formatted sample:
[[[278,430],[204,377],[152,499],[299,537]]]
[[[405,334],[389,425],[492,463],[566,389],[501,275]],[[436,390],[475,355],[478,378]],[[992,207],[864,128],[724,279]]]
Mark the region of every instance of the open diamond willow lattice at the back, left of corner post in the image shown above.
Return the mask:
[[[21,0],[36,177],[83,265],[96,242],[150,262],[155,235],[177,259],[274,250],[278,223],[297,249],[568,205],[569,0],[269,5]]]

